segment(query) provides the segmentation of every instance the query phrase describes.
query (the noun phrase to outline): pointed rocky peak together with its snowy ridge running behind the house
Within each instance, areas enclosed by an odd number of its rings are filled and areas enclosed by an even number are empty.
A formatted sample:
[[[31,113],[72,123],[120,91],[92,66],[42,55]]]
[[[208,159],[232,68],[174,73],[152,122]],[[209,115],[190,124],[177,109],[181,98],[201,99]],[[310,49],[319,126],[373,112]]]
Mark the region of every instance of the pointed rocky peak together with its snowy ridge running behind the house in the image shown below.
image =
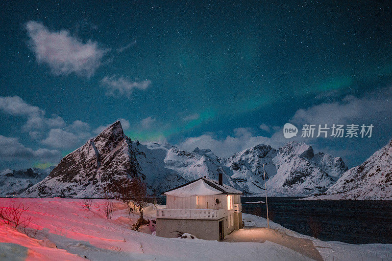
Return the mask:
[[[198,177],[207,176],[240,188],[210,150],[184,152],[169,144],[131,141],[120,121],[65,156],[47,178],[21,196],[99,197],[105,186],[119,186],[141,177],[149,192],[159,194]]]

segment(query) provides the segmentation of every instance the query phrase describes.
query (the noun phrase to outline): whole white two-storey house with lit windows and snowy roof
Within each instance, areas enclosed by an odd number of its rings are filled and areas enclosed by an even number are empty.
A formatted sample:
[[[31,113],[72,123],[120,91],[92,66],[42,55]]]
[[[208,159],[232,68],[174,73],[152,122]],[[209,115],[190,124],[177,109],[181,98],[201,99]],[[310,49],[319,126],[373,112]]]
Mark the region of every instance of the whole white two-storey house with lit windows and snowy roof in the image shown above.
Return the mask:
[[[202,177],[162,193],[166,209],[158,209],[156,235],[165,238],[190,233],[199,239],[222,240],[243,227],[241,191]]]

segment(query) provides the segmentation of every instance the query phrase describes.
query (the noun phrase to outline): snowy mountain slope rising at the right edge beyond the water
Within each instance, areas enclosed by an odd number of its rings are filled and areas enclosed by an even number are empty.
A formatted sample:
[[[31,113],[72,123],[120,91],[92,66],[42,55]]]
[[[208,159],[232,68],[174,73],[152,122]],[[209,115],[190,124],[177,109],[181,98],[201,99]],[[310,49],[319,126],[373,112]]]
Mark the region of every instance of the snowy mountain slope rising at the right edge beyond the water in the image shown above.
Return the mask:
[[[309,199],[392,200],[392,140],[328,189]]]

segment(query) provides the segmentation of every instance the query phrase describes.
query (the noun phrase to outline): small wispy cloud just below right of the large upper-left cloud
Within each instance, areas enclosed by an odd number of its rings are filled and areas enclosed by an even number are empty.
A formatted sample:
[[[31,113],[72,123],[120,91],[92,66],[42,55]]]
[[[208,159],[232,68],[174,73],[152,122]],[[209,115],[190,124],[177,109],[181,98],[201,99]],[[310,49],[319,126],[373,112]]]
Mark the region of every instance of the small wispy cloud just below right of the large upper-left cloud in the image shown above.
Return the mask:
[[[114,75],[105,76],[101,81],[101,86],[106,89],[105,94],[107,96],[122,96],[130,98],[134,89],[145,90],[151,86],[150,80],[144,80],[141,82],[130,81],[123,76],[116,79]]]

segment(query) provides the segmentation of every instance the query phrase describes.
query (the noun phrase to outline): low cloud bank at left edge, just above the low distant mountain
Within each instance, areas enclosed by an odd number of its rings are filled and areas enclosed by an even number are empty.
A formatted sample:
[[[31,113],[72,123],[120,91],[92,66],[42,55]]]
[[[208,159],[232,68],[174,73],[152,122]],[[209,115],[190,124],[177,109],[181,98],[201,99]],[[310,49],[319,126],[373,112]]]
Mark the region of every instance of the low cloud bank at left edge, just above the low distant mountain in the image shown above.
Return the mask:
[[[0,135],[0,158],[2,160],[41,160],[50,161],[61,158],[57,150],[26,148],[18,138]]]

